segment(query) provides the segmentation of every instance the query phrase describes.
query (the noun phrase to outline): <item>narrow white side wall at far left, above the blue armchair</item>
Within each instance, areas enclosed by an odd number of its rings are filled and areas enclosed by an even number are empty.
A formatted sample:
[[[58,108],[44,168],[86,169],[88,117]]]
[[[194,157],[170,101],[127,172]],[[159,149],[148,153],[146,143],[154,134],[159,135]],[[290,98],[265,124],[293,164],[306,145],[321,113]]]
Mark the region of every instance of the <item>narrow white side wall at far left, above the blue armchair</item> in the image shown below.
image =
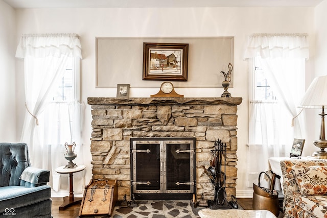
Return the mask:
[[[15,142],[15,10],[0,1],[0,141]]]

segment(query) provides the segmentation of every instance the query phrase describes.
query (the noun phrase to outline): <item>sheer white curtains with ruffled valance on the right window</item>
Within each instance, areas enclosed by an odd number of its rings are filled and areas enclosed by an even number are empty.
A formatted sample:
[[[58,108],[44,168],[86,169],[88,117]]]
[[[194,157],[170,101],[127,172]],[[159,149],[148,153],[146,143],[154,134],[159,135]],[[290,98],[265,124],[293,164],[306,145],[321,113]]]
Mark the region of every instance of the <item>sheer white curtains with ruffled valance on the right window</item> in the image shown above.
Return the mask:
[[[249,187],[269,157],[289,156],[293,138],[303,138],[304,117],[296,117],[305,93],[305,60],[309,58],[308,34],[254,34],[245,58],[260,64],[277,101],[251,96],[249,115]],[[282,111],[282,113],[281,113]],[[296,118],[294,118],[296,117]]]

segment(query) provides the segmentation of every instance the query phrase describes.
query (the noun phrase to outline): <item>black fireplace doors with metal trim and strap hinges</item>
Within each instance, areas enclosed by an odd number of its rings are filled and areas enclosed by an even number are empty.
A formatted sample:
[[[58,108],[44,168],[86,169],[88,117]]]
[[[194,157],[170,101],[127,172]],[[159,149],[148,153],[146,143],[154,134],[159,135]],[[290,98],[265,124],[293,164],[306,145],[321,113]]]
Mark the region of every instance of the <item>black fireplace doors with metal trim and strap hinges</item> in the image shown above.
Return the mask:
[[[190,200],[196,193],[196,138],[131,138],[135,200]]]

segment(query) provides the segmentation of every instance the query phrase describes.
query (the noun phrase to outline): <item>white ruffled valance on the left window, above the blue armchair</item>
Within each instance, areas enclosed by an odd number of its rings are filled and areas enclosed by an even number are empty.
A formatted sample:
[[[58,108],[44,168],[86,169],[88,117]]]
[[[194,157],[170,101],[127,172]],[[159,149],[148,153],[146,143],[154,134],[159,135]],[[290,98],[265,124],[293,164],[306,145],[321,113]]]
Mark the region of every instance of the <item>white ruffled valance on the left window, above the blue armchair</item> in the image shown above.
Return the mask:
[[[16,50],[17,58],[61,55],[82,59],[81,43],[77,34],[24,34]]]

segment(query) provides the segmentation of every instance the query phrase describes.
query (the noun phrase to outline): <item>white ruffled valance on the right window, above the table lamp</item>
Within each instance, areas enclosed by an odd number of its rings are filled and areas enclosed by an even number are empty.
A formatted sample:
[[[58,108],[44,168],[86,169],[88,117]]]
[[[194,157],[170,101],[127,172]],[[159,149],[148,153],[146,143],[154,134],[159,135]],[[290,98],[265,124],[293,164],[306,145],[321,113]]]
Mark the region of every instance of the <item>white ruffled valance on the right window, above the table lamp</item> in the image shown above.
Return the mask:
[[[293,34],[253,34],[248,41],[246,58],[309,58],[307,33]]]

